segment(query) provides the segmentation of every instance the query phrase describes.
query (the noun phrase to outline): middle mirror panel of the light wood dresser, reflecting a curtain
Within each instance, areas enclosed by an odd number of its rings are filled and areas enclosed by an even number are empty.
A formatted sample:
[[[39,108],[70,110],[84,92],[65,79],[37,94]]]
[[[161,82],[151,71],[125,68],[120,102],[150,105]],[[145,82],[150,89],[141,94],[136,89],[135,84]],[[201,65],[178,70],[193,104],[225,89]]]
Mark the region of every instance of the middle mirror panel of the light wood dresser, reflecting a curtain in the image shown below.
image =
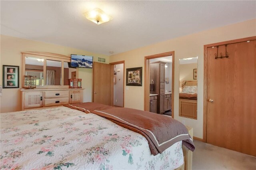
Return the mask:
[[[61,85],[61,61],[46,59],[46,85]]]

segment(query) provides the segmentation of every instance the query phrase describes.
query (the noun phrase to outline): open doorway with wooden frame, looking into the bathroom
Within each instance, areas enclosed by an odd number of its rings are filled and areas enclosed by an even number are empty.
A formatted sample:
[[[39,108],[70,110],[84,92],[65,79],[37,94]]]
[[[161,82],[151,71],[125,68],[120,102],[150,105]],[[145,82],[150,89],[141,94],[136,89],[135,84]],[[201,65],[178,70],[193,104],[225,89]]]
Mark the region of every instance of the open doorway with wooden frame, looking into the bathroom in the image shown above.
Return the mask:
[[[174,117],[174,51],[145,57],[144,110]]]

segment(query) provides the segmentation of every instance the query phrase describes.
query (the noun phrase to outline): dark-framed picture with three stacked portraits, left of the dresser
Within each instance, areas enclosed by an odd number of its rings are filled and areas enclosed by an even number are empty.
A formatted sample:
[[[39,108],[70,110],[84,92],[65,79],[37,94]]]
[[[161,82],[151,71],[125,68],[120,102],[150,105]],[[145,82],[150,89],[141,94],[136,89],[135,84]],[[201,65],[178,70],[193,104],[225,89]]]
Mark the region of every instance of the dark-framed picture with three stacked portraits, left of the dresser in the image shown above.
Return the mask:
[[[19,66],[3,65],[3,88],[19,88]]]

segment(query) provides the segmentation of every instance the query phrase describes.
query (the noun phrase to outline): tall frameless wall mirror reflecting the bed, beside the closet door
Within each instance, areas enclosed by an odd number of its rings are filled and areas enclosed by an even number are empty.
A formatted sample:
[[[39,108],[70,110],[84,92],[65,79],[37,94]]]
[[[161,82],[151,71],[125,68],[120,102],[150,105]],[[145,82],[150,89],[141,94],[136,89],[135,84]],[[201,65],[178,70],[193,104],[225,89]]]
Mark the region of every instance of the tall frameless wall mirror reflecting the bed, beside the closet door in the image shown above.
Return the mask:
[[[179,116],[197,119],[197,57],[179,62]]]

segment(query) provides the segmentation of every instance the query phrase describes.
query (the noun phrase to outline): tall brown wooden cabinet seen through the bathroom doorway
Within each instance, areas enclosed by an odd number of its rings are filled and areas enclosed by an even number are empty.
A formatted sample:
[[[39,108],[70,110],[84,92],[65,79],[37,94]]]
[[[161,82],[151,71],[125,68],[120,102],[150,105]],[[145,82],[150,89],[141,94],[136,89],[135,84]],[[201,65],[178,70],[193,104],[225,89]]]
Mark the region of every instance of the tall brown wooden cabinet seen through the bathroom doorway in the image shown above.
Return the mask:
[[[160,114],[164,113],[165,64],[161,61],[150,63],[150,82],[154,82],[154,88],[151,88],[150,93],[159,96],[157,113]]]

